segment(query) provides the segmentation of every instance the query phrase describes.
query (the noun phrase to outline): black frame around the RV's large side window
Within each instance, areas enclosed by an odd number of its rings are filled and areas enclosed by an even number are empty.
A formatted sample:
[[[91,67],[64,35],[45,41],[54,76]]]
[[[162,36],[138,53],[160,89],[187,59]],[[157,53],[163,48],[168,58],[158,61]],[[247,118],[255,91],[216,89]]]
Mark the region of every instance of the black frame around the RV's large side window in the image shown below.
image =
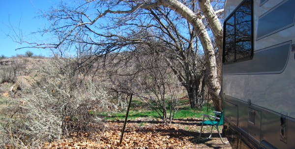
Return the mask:
[[[241,7],[241,5],[247,0],[243,0],[237,7],[236,9],[225,19],[224,24],[223,24],[223,46],[222,46],[222,63],[223,64],[231,64],[231,63],[236,63],[236,62],[240,62],[240,61],[245,61],[245,60],[252,60],[253,59],[253,53],[254,53],[254,19],[253,19],[253,0],[250,0],[251,2],[251,53],[250,56],[248,57],[243,57],[240,59],[236,59],[236,56],[234,58],[234,60],[231,61],[226,61],[225,60],[225,34],[226,34],[226,23],[236,14],[236,11]],[[235,19],[235,38],[236,38],[236,19]],[[234,43],[236,45],[236,41]],[[236,55],[236,46],[235,46],[235,55]]]

